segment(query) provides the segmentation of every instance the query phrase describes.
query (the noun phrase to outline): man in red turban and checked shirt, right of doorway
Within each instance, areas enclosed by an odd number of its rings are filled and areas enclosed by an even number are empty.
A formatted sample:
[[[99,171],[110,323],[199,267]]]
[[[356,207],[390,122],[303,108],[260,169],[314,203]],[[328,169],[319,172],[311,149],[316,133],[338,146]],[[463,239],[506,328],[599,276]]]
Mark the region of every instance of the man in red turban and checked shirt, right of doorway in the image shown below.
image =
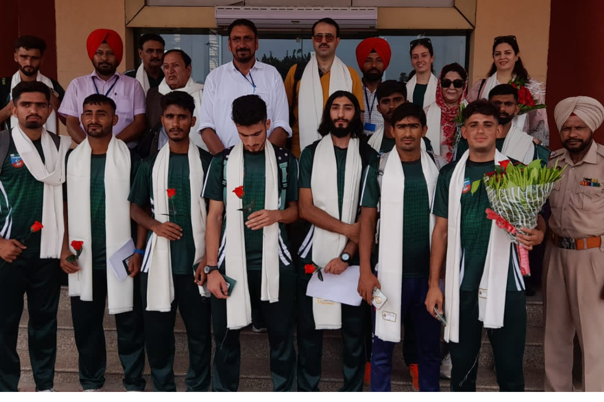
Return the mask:
[[[379,83],[382,82],[384,71],[390,64],[391,54],[388,42],[378,37],[364,39],[356,46],[356,61],[363,73],[363,78],[361,78],[365,95],[363,133],[366,136],[370,136],[384,127],[384,119],[377,110],[379,100],[377,99],[376,89]]]

